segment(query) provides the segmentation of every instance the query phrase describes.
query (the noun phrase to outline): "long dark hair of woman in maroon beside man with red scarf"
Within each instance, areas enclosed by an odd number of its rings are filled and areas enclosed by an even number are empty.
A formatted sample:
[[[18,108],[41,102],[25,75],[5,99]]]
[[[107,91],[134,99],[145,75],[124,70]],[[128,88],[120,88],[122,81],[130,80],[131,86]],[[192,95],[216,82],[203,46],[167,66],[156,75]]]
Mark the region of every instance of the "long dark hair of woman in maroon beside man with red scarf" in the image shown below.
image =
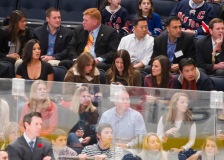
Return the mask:
[[[160,55],[160,56],[153,58],[151,61],[151,73],[152,73],[152,64],[155,60],[158,60],[161,65],[162,77],[161,77],[161,83],[158,85],[157,81],[156,81],[156,77],[151,74],[152,86],[159,87],[159,88],[166,88],[167,84],[169,82],[169,77],[170,77],[170,67],[171,67],[170,61],[164,55]]]

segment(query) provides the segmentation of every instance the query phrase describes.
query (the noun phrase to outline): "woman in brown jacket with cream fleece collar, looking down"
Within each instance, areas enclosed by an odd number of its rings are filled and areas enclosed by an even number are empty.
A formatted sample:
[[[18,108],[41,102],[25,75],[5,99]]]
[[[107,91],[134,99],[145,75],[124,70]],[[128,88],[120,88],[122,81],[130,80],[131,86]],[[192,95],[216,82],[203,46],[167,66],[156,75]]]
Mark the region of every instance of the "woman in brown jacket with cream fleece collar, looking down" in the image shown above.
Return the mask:
[[[100,72],[96,68],[94,57],[88,52],[83,52],[68,70],[64,82],[99,84]]]

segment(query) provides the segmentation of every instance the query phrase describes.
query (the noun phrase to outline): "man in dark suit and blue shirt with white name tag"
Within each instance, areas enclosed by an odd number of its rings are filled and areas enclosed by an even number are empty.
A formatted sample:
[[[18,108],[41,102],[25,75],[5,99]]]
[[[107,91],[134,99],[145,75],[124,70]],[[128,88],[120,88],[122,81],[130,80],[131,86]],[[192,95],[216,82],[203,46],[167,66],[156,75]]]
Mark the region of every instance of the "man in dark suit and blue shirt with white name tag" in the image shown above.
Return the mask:
[[[178,17],[169,17],[166,22],[167,32],[160,34],[154,40],[151,59],[159,55],[169,58],[172,72],[178,72],[178,63],[182,58],[195,59],[193,36],[181,31],[181,21]]]

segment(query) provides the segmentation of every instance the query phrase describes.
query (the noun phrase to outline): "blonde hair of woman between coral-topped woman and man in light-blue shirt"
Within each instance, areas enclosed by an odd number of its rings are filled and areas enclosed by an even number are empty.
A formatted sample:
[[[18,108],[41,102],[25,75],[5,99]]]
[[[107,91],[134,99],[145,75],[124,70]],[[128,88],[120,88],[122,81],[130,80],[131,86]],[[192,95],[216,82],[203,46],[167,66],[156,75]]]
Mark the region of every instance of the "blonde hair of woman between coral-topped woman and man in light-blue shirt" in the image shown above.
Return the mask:
[[[71,106],[70,106],[70,110],[72,110],[75,113],[79,113],[79,109],[80,109],[80,101],[79,101],[79,97],[81,95],[82,92],[87,91],[89,93],[89,89],[86,86],[81,86],[78,89],[76,89],[72,101],[71,101]],[[88,106],[86,106],[85,112],[94,112],[96,111],[96,107],[92,104],[91,100],[88,104]]]

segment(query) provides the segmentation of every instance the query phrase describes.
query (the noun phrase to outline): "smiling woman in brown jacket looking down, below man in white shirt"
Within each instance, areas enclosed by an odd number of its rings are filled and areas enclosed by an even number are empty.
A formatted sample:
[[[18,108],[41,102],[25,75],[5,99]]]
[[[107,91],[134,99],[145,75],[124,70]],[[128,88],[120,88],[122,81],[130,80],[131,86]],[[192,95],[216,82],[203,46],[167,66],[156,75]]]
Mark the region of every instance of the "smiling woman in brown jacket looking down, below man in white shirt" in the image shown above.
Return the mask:
[[[117,82],[125,86],[141,86],[140,72],[132,67],[130,55],[123,49],[117,51],[105,76],[107,84]]]

